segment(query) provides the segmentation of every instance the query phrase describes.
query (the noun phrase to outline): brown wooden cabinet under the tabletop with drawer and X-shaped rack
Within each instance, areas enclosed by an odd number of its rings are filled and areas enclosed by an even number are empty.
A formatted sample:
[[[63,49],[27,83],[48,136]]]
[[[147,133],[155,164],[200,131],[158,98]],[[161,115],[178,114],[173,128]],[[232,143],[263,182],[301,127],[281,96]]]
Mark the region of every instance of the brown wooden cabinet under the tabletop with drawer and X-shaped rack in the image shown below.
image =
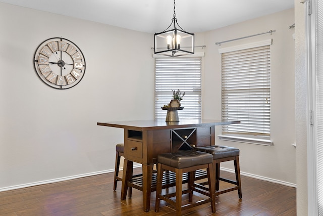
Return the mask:
[[[214,126],[134,131],[125,129],[125,155],[141,164],[157,162],[158,154],[214,145]]]

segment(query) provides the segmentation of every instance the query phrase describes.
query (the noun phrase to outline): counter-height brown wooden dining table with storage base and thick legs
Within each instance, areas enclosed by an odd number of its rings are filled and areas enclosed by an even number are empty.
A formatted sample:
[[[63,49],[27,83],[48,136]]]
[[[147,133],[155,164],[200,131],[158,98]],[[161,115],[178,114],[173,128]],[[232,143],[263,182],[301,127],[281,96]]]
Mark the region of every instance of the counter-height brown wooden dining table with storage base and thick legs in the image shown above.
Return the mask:
[[[97,122],[97,125],[124,129],[124,167],[121,199],[127,197],[128,184],[132,179],[133,162],[142,164],[143,210],[149,211],[152,189],[153,164],[157,155],[194,147],[215,145],[215,126],[238,124],[240,121],[212,119],[165,119]]]

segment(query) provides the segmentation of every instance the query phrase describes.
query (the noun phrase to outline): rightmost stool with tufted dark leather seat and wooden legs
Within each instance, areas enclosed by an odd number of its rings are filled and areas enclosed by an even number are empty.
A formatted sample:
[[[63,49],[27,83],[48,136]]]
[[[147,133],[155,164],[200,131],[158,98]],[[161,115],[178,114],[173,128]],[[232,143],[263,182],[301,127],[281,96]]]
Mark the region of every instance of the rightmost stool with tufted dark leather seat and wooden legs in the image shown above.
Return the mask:
[[[216,196],[230,191],[238,190],[238,196],[241,199],[242,192],[241,192],[240,164],[239,164],[240,150],[229,146],[217,146],[217,145],[195,147],[193,148],[193,150],[199,151],[199,152],[206,152],[213,156],[213,168],[215,169],[215,173],[216,173]],[[234,162],[236,181],[220,177],[220,163],[224,161],[230,161],[230,160],[233,160]],[[236,186],[228,189],[220,190],[220,181],[228,182]]]

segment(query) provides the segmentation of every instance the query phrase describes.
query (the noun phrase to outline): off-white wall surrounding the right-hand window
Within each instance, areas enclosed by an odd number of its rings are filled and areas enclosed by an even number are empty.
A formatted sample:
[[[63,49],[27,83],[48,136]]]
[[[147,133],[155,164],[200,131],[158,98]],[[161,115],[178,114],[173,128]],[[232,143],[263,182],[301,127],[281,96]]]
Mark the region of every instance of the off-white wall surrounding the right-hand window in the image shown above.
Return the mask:
[[[202,94],[203,118],[221,119],[221,55],[220,48],[247,44],[253,41],[273,39],[271,46],[271,140],[273,146],[222,141],[240,149],[241,171],[251,176],[295,186],[295,81],[294,81],[294,10],[286,10],[224,28],[205,32],[205,58]],[[269,30],[263,34],[227,42],[221,46],[215,42],[239,38]],[[221,127],[216,129],[221,132]],[[224,167],[232,168],[233,163]]]

